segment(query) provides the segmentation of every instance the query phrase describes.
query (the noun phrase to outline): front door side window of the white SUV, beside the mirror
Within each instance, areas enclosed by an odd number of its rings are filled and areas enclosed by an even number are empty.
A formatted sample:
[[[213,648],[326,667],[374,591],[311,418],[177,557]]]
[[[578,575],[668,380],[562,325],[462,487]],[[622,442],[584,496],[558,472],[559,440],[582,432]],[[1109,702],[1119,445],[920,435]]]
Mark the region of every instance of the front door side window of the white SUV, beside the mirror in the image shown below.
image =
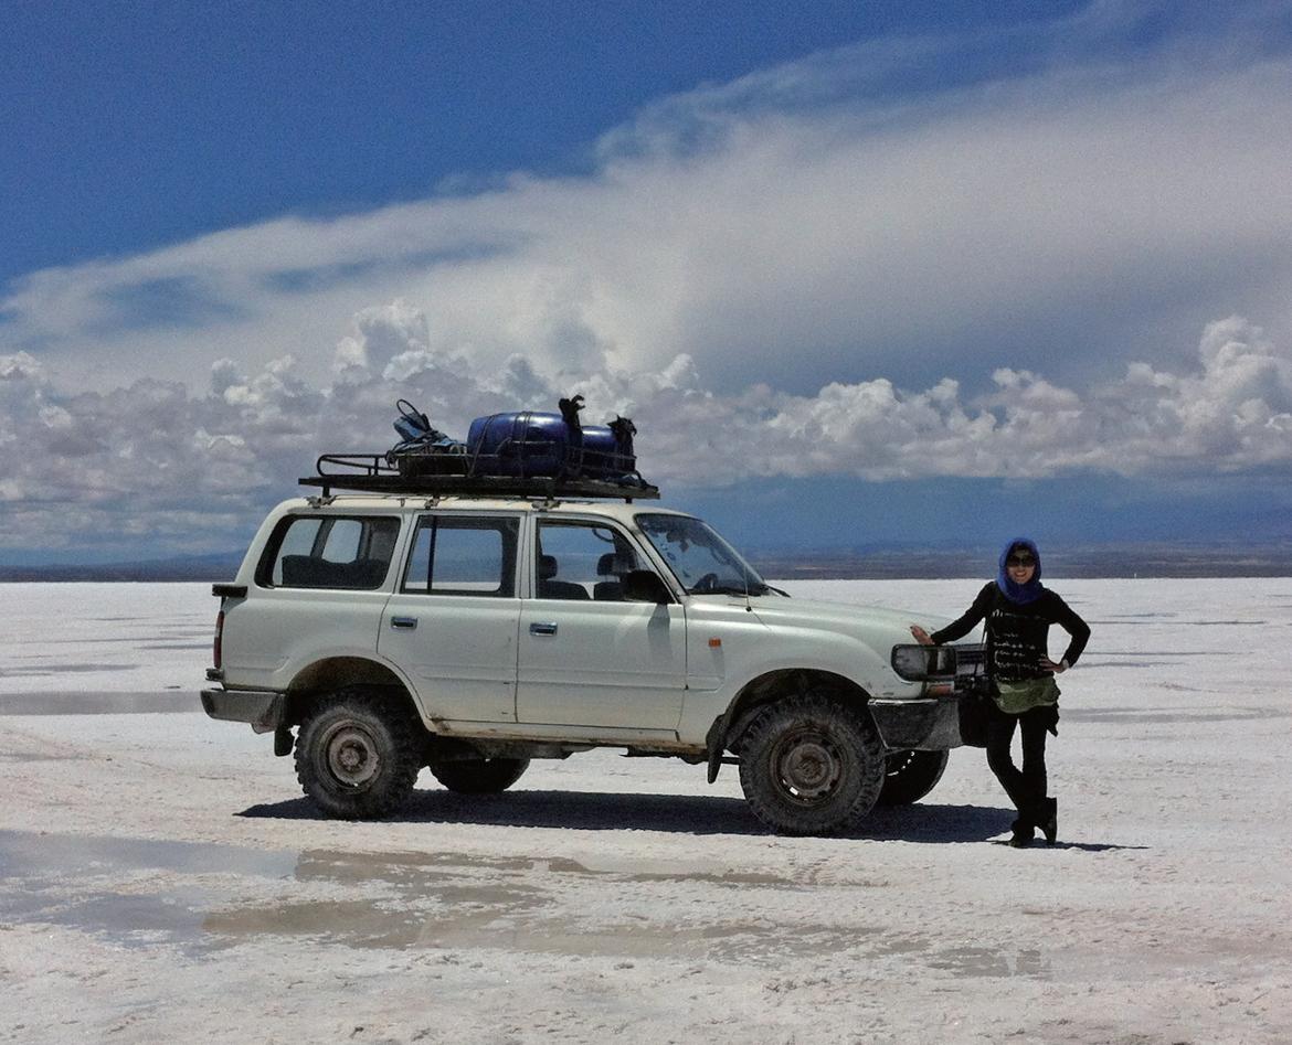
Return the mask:
[[[624,602],[623,579],[641,568],[623,533],[590,522],[540,522],[536,553],[539,598]]]

